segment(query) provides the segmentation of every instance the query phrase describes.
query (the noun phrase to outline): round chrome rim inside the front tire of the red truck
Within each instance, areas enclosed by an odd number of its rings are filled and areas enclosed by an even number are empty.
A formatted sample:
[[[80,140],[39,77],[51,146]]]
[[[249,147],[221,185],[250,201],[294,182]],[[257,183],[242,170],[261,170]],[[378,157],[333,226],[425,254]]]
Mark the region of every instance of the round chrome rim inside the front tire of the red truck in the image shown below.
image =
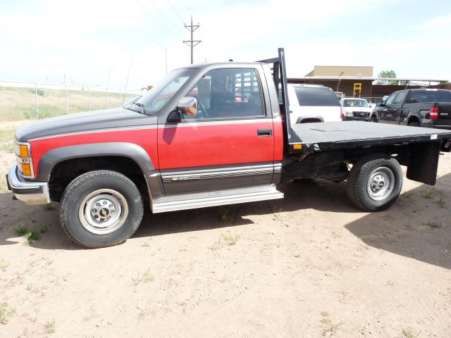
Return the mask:
[[[80,223],[92,234],[110,234],[118,230],[127,216],[125,197],[112,189],[98,189],[88,194],[78,209]]]

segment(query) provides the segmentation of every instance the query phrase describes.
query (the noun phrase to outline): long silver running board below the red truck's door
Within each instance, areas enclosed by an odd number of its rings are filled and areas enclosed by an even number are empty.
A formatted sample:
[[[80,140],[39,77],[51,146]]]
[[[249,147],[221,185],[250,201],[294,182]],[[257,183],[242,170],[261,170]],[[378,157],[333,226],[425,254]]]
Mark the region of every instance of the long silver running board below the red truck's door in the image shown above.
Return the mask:
[[[158,201],[154,201],[152,211],[153,213],[164,213],[166,211],[266,201],[269,199],[283,199],[283,193],[278,192],[275,185],[265,185],[264,187],[230,189],[221,192],[161,197]]]

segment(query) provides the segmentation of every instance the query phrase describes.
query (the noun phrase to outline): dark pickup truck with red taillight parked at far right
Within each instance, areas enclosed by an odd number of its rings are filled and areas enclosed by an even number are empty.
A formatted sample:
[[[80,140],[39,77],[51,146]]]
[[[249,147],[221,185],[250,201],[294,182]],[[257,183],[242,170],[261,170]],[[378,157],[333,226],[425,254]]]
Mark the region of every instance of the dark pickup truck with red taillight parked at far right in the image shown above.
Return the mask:
[[[394,92],[374,108],[371,121],[451,129],[451,90],[407,89]]]

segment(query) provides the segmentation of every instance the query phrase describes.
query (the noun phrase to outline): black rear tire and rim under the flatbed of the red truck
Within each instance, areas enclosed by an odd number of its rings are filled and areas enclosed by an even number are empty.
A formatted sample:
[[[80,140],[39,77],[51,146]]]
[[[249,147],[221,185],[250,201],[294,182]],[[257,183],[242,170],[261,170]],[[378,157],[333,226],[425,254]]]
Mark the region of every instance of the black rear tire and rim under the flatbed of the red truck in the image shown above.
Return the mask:
[[[395,203],[402,188],[402,170],[395,158],[370,154],[359,158],[347,178],[347,196],[364,211],[383,211]]]

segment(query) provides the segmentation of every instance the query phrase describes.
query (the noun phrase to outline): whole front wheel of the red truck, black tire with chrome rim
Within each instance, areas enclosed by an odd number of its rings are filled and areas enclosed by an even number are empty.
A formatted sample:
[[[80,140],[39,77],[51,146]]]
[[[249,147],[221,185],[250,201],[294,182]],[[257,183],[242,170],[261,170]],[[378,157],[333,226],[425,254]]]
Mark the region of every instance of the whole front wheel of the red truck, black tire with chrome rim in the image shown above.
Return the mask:
[[[93,249],[125,242],[140,226],[143,211],[141,194],[128,177],[97,170],[66,187],[60,220],[73,242]]]

